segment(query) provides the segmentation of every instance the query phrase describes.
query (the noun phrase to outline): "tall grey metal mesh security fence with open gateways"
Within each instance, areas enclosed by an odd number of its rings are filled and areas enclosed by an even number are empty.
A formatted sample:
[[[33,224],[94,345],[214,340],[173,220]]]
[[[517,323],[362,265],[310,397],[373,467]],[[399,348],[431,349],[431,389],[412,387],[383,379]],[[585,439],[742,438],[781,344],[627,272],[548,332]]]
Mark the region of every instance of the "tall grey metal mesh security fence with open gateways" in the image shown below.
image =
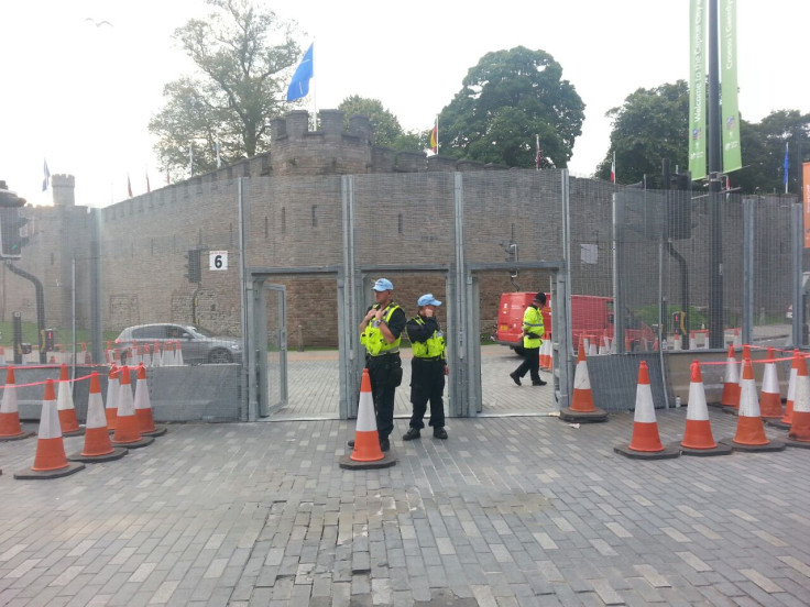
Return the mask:
[[[642,357],[666,405],[681,390],[675,361],[807,341],[800,216],[787,197],[711,199],[565,170],[211,176],[90,212],[37,210],[31,232],[18,265],[41,278],[42,329],[57,336],[39,349],[33,285],[3,267],[0,313],[23,318],[25,362],[106,372],[155,366],[156,342],[161,363],[179,347],[184,364],[160,372],[171,374],[165,419],[352,417],[357,327],[380,276],[407,316],[424,293],[445,302],[450,416],[565,406],[580,346],[594,397],[627,409]],[[554,389],[505,394],[518,360],[489,339],[500,296],[537,290],[551,294]],[[9,322],[7,346],[11,333]]]

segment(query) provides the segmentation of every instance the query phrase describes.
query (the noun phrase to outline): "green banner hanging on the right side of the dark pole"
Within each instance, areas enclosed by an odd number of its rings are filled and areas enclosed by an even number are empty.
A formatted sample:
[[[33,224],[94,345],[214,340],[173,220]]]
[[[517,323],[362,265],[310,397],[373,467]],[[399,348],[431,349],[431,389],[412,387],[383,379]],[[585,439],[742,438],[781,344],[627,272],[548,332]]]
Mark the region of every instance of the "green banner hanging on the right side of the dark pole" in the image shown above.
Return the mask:
[[[721,0],[720,96],[723,101],[723,173],[743,168],[737,104],[737,2]]]

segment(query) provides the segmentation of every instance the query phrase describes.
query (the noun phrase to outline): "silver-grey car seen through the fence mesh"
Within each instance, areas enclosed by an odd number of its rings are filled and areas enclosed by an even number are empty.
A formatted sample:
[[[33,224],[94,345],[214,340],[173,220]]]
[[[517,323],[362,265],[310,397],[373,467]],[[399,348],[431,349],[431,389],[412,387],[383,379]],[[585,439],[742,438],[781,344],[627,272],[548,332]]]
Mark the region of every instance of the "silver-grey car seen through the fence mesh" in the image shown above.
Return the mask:
[[[183,362],[187,365],[227,364],[242,362],[242,342],[231,338],[216,336],[200,327],[188,324],[155,323],[128,327],[116,339],[121,350],[121,362],[127,362],[127,352],[134,345],[178,342]]]

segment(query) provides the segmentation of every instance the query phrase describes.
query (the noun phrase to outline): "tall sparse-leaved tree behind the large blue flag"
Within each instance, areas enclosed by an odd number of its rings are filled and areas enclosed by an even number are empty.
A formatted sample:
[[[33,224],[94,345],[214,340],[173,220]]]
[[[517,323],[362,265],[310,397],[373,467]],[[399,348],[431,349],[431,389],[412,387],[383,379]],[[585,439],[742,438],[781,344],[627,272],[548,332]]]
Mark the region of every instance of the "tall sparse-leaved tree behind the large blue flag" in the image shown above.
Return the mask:
[[[176,173],[188,166],[189,148],[195,172],[216,167],[217,142],[223,162],[267,150],[267,121],[287,109],[289,68],[300,54],[294,25],[273,11],[251,0],[206,2],[216,11],[174,34],[199,74],[167,84],[166,104],[149,124],[155,153]]]

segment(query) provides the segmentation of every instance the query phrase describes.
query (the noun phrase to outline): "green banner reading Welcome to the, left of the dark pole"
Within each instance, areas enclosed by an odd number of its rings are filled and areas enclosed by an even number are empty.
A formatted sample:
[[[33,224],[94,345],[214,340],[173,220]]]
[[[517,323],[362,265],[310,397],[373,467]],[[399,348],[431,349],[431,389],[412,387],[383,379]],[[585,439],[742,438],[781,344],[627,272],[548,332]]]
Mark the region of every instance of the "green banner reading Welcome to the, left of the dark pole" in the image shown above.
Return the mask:
[[[689,172],[705,177],[705,0],[689,2]]]

